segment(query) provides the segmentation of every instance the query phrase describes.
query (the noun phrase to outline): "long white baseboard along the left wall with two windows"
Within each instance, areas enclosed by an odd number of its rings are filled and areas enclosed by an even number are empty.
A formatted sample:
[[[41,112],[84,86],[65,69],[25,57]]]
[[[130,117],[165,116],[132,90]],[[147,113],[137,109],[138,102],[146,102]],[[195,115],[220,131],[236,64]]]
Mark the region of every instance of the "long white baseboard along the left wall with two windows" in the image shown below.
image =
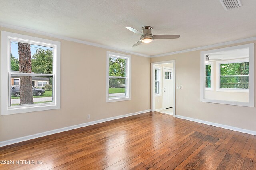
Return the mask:
[[[111,121],[111,120],[120,119],[120,118],[124,118],[124,117],[129,117],[129,116],[133,116],[133,115],[138,115],[138,114],[146,113],[146,112],[149,112],[149,111],[151,111],[151,110],[149,109],[149,110],[144,110],[144,111],[138,111],[136,113],[130,113],[130,114],[126,114],[126,115],[110,117],[110,118],[106,118],[106,119],[91,121],[91,122],[88,122],[88,123],[82,123],[82,124],[79,124],[79,125],[63,127],[63,128],[60,128],[60,129],[54,129],[52,131],[36,133],[34,135],[28,135],[28,136],[19,137],[19,138],[16,138],[16,139],[10,139],[10,140],[7,140],[7,141],[0,142],[0,147],[6,146],[6,145],[11,145],[11,144],[22,142],[22,141],[27,141],[27,140],[30,140],[30,139],[35,139],[35,138],[38,138],[38,137],[52,135],[54,133],[60,133],[60,132],[69,131],[69,130],[72,130],[72,129],[77,129],[77,128],[80,128],[80,127],[86,127],[86,126],[95,125],[95,124],[98,124],[98,123],[103,123],[103,122],[106,122],[106,121]]]

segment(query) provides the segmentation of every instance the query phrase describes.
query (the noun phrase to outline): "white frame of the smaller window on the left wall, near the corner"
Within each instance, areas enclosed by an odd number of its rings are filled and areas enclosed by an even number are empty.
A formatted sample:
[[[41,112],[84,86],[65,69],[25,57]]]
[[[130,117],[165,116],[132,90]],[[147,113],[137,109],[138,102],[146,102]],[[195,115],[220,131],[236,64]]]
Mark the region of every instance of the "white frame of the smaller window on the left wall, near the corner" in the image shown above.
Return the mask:
[[[116,98],[109,98],[108,89],[109,89],[109,57],[116,57],[121,59],[126,59],[126,96],[116,97]],[[118,102],[124,100],[131,100],[131,56],[114,53],[111,51],[107,51],[106,56],[106,102]]]

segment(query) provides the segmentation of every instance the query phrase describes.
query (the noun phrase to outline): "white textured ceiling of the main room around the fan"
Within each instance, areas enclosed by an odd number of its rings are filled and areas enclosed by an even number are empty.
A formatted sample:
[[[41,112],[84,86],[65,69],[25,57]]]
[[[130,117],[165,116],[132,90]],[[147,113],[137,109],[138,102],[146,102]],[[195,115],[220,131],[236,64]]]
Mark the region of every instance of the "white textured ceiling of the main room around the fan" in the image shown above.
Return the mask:
[[[256,0],[225,11],[219,0],[0,0],[0,22],[146,55],[256,36]],[[132,47],[140,30],[179,34]]]

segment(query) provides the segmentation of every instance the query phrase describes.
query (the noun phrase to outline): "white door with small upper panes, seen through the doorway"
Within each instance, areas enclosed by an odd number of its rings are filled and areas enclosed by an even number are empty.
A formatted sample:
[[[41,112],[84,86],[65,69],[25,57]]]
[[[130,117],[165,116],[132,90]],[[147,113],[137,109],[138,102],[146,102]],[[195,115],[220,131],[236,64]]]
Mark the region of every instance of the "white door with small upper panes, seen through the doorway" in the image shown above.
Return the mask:
[[[163,68],[163,109],[173,107],[173,68]]]

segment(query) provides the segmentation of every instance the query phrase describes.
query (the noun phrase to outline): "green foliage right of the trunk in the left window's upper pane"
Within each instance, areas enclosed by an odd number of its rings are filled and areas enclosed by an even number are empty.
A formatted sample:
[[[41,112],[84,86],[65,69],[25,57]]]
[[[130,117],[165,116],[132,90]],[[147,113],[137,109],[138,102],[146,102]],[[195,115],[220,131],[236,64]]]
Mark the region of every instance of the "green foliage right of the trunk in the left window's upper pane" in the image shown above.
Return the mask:
[[[52,74],[52,50],[37,49],[31,64],[34,73]]]

